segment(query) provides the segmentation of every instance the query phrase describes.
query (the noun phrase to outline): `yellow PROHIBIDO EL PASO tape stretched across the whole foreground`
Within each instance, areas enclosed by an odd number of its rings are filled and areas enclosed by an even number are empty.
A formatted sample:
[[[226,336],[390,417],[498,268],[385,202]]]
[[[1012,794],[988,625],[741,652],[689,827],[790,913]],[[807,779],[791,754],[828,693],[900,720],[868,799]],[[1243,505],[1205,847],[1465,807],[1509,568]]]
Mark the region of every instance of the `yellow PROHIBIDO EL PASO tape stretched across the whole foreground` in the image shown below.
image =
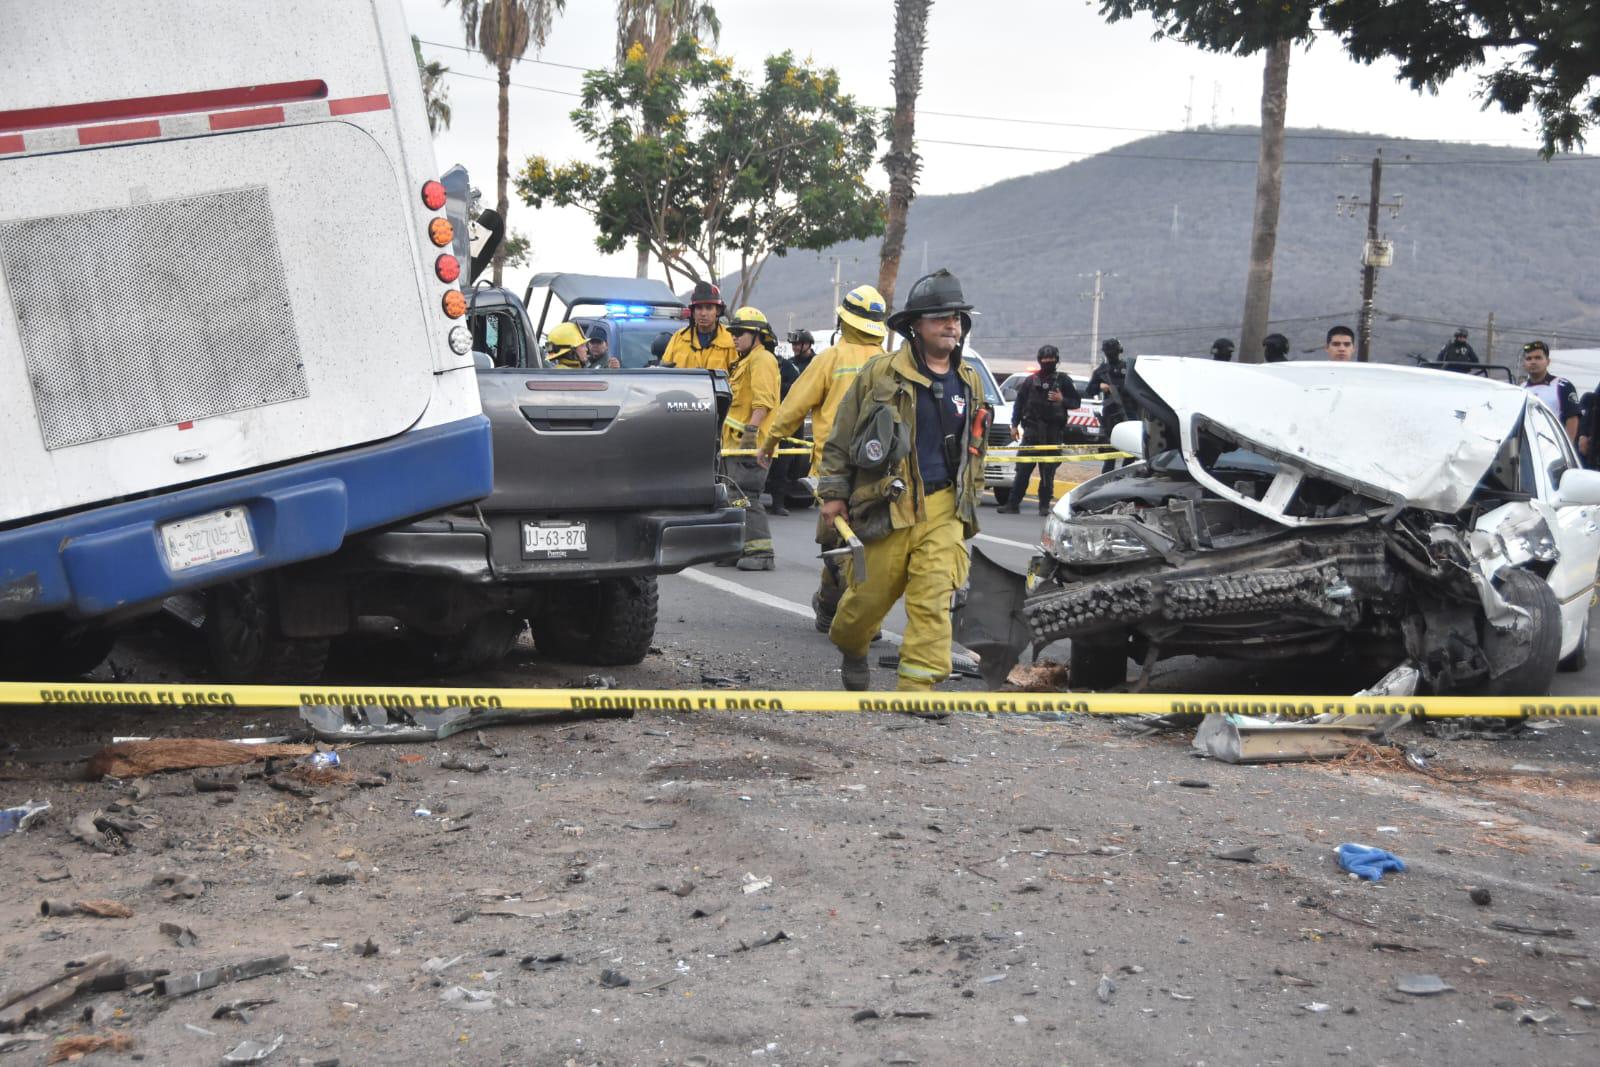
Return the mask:
[[[0,704],[146,707],[362,705],[510,710],[670,712],[952,712],[1072,715],[1419,715],[1426,718],[1600,717],[1600,696],[1214,696],[1194,693],[834,693],[733,689],[490,689],[357,685],[152,685],[102,681],[0,681]]]

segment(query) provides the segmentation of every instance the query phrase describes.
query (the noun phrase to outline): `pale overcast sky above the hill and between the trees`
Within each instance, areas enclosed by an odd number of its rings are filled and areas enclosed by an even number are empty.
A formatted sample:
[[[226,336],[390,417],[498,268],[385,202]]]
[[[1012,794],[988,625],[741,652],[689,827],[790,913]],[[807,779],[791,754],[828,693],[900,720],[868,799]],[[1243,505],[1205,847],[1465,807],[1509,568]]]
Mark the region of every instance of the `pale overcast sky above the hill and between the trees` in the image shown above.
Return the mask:
[[[435,139],[440,170],[464,163],[485,202],[493,203],[494,70],[480,56],[459,50],[464,38],[456,6],[445,8],[440,0],[403,0],[403,5],[411,32],[424,42],[424,58],[442,61],[458,75],[448,78],[451,126]],[[886,106],[893,101],[891,0],[718,0],[715,8],[722,18],[717,48],[733,56],[741,69],[755,70],[765,56],[787,48],[837,67],[845,90],[862,102]],[[918,149],[925,160],[920,192],[966,192],[1064,166],[1082,158],[1072,154],[1101,152],[1149,131],[1181,130],[1190,107],[1195,126],[1211,125],[1213,117],[1221,125],[1259,120],[1259,58],[1237,59],[1154,42],[1150,32],[1152,22],[1144,18],[1107,26],[1086,0],[936,0],[917,115]],[[510,90],[514,176],[531,154],[566,160],[584,152],[568,118],[576,99],[562,94],[578,91],[582,72],[550,64],[610,66],[614,42],[611,0],[568,0],[566,14],[558,18],[549,46],[538,56],[547,62],[515,64]],[[534,59],[531,50],[528,58]],[[1395,82],[1394,66],[1365,67],[1347,59],[1336,42],[1318,40],[1294,53],[1288,122],[1291,126],[1536,147],[1531,120],[1480,110],[1475,86],[1475,77],[1462,75],[1437,96],[1413,93]],[[1082,123],[1083,128],[1038,122]],[[1254,154],[1250,141],[1240,147]],[[883,187],[882,176],[877,186]],[[534,269],[634,272],[632,253],[606,258],[595,251],[594,229],[581,211],[547,208],[534,214],[517,203],[515,189],[510,195],[510,224],[533,240]],[[525,274],[510,278],[518,290]]]

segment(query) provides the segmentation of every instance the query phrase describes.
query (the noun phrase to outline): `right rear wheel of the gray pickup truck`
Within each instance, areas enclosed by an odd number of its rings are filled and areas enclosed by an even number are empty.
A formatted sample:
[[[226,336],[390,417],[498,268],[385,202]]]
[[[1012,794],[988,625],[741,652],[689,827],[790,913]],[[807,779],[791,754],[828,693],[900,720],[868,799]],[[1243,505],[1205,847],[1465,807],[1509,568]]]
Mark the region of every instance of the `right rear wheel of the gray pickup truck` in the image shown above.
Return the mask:
[[[539,651],[594,667],[637,664],[656,637],[656,579],[608,577],[552,593],[533,621]]]

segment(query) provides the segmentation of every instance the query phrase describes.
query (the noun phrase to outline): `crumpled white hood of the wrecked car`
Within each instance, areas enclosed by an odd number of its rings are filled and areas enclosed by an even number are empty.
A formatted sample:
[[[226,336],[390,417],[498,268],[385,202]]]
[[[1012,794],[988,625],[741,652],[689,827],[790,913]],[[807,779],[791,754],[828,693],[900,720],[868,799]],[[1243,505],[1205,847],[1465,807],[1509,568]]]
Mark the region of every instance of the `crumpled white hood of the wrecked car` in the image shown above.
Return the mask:
[[[1378,499],[1456,512],[1528,403],[1525,390],[1504,382],[1373,363],[1146,355],[1136,371],[1178,416],[1190,472],[1230,499],[1238,494],[1198,470],[1197,424],[1210,422],[1282,464],[1336,474]],[[1238,502],[1269,514],[1248,498]]]

